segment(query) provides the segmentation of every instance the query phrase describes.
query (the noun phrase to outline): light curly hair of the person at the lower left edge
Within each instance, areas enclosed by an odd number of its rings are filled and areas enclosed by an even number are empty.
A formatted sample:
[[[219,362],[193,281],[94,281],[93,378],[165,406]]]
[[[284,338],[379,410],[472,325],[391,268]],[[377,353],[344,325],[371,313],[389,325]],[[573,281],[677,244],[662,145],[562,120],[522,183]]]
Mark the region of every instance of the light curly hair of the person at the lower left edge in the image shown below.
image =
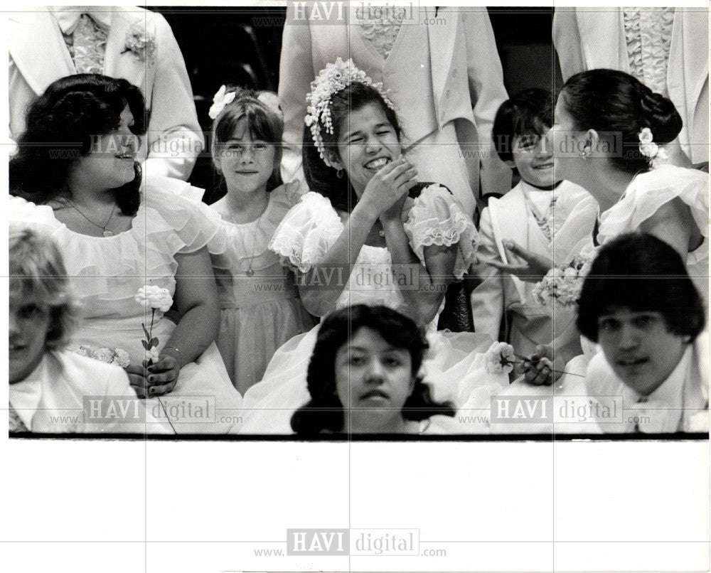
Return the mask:
[[[18,223],[9,230],[10,290],[49,309],[48,350],[63,348],[75,325],[76,309],[62,255],[49,235]]]

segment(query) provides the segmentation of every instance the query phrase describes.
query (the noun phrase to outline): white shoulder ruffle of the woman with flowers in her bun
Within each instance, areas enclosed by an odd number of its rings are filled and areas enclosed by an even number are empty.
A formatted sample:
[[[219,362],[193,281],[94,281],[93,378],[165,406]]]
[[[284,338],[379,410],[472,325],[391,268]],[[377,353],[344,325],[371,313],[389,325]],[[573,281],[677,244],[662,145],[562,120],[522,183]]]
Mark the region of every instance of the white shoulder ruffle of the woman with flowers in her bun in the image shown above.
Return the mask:
[[[702,235],[708,237],[709,175],[698,169],[665,165],[642,173],[626,189],[619,203],[602,213],[601,242],[623,232],[636,230],[641,223],[674,198],[689,205]]]

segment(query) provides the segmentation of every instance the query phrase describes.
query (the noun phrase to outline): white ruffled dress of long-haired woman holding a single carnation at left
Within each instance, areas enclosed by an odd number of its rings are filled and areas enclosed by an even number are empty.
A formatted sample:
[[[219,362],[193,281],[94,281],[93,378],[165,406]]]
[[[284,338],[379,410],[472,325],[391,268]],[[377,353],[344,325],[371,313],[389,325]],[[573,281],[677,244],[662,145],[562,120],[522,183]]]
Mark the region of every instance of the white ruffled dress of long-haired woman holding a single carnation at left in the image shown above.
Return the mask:
[[[166,178],[151,178],[143,188],[132,227],[110,237],[73,232],[55,218],[48,205],[9,199],[11,223],[49,232],[63,255],[81,307],[81,321],[70,349],[82,345],[122,348],[133,363],[142,363],[146,354],[141,346],[145,338],[141,323],[149,327],[151,310],[137,303],[134,296],[146,284],[164,287],[172,296],[178,269],[175,255],[200,250],[219,232],[216,213],[196,200],[166,191],[172,185],[168,180],[163,186],[163,181]],[[156,310],[152,334],[159,338],[159,348],[174,328],[175,323]],[[242,397],[230,383],[217,346],[211,343],[200,358],[183,366],[173,392],[146,402],[151,411],[169,419],[178,434],[225,434],[240,410]],[[195,402],[192,410],[188,402]]]

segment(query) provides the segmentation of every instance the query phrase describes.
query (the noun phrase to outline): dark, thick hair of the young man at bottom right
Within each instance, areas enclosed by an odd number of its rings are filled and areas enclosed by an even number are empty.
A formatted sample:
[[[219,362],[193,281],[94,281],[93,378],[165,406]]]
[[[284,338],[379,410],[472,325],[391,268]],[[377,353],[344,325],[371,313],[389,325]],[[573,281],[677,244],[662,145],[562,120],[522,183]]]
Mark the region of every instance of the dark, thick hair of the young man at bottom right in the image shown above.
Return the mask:
[[[705,324],[704,304],[681,256],[663,240],[627,233],[603,245],[578,299],[577,327],[597,342],[597,321],[610,309],[655,311],[671,333],[694,340]]]

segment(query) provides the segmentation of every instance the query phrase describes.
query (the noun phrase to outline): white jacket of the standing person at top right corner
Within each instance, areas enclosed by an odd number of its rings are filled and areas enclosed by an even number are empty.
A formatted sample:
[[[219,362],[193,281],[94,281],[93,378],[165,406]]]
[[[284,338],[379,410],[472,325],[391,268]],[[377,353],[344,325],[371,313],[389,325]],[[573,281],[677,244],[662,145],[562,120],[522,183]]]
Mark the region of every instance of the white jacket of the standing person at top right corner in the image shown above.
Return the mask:
[[[557,8],[553,43],[563,80],[584,70],[629,73],[623,8]],[[684,127],[679,143],[692,163],[709,160],[709,11],[677,8],[667,90]]]

